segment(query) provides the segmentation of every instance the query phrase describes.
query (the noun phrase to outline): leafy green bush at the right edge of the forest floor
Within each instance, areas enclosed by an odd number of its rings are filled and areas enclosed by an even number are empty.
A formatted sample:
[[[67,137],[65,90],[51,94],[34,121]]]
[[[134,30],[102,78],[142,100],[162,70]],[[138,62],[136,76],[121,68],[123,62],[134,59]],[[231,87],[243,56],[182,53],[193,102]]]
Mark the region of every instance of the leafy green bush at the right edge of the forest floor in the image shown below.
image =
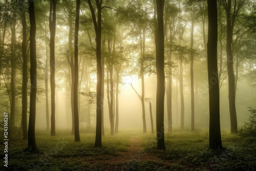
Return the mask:
[[[251,115],[249,116],[249,122],[246,122],[244,126],[240,127],[239,135],[244,137],[256,137],[256,110],[249,108]]]

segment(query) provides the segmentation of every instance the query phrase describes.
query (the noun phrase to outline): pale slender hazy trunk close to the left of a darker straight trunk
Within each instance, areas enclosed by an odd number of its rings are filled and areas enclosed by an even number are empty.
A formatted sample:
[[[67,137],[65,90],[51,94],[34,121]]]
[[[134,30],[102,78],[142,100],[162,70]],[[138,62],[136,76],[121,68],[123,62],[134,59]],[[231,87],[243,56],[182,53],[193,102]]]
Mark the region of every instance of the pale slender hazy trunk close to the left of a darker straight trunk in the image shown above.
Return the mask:
[[[46,30],[46,23],[45,23]],[[49,101],[48,101],[48,47],[47,47],[47,31],[45,31],[46,37],[46,68],[45,68],[45,87],[46,87],[46,130],[50,130],[50,118],[49,118]]]

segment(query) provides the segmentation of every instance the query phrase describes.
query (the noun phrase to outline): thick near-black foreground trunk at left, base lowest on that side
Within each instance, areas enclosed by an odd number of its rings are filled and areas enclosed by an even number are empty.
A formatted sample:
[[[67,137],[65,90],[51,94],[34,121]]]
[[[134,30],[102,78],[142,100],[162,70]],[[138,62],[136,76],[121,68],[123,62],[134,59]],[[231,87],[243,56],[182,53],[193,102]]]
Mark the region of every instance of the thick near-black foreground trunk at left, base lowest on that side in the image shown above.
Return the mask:
[[[34,1],[29,2],[29,21],[30,21],[30,106],[29,106],[29,129],[28,129],[28,151],[37,151],[35,142],[35,116],[36,116],[36,24]]]

